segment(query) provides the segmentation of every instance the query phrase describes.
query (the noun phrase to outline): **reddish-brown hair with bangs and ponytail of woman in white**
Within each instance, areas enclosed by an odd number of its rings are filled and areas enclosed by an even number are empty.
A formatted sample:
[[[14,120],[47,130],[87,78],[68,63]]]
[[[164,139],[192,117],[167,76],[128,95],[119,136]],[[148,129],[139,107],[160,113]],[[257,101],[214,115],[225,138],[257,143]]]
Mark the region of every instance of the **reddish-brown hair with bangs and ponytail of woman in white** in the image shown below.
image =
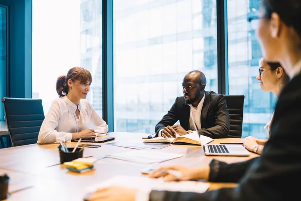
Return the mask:
[[[58,77],[56,82],[56,90],[60,97],[68,94],[69,87],[67,81],[71,79],[73,82],[79,81],[80,83],[90,81],[92,82],[91,73],[82,67],[71,68],[67,75],[61,75]]]

